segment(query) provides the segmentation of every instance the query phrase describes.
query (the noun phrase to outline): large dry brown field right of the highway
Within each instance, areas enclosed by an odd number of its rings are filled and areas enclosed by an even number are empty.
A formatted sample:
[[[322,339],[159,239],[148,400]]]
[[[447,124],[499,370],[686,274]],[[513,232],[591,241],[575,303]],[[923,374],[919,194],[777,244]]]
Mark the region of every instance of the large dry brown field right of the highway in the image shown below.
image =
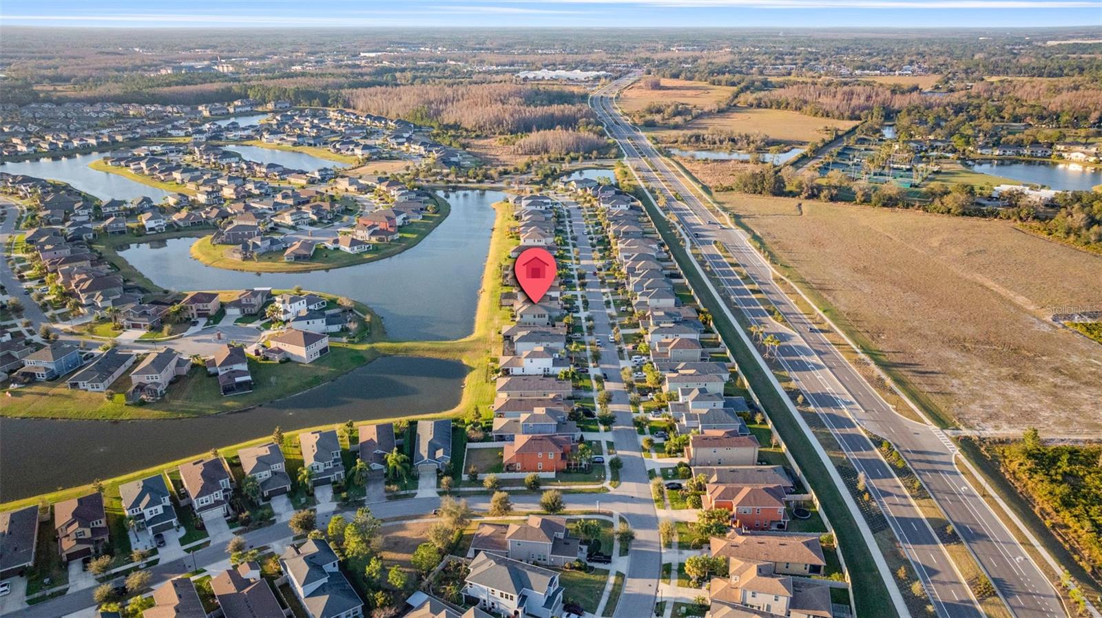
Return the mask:
[[[1047,319],[1102,306],[1102,257],[1000,220],[717,198],[961,426],[1102,435],[1102,346]]]

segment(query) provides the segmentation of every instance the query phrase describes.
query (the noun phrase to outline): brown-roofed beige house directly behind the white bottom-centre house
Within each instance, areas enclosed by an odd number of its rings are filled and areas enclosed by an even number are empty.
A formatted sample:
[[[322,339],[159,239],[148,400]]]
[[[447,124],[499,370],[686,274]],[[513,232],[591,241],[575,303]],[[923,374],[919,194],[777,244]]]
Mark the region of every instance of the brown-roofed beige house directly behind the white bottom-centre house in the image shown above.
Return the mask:
[[[467,557],[478,552],[557,567],[585,555],[579,539],[570,535],[564,518],[543,516],[528,516],[522,523],[479,523]]]

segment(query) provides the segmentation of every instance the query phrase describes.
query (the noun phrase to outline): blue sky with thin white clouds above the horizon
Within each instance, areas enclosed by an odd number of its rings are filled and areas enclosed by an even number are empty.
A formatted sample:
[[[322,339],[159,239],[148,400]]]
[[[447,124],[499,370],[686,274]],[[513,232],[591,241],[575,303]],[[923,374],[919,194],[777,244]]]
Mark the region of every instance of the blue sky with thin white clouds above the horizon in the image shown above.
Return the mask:
[[[1089,26],[1102,0],[3,0],[2,25]]]

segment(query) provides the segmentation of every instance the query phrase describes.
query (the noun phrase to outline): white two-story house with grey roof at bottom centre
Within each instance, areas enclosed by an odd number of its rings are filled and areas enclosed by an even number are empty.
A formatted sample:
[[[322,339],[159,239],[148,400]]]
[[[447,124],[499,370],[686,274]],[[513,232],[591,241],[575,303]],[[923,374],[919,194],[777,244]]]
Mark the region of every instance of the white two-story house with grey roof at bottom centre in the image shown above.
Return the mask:
[[[561,616],[563,592],[559,573],[488,552],[471,561],[463,587],[479,608],[505,618]]]

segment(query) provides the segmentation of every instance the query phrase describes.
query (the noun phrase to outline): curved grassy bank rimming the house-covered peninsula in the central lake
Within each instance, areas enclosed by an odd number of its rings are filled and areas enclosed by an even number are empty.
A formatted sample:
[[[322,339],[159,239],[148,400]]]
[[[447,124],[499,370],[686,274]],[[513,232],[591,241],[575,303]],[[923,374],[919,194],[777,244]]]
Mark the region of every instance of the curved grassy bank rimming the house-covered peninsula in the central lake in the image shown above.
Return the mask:
[[[212,236],[205,236],[196,240],[192,245],[191,252],[193,258],[207,265],[247,272],[307,272],[312,270],[353,267],[397,256],[424,240],[452,210],[451,206],[444,199],[436,198],[436,204],[440,207],[440,212],[435,215],[425,214],[424,218],[420,221],[412,221],[399,228],[398,240],[375,243],[369,251],[364,251],[363,253],[346,253],[339,249],[317,247],[314,249],[313,257],[309,260],[289,262],[283,259],[281,251],[264,253],[256,260],[238,260],[229,254],[229,250],[234,248],[233,246],[214,245],[210,242]]]

